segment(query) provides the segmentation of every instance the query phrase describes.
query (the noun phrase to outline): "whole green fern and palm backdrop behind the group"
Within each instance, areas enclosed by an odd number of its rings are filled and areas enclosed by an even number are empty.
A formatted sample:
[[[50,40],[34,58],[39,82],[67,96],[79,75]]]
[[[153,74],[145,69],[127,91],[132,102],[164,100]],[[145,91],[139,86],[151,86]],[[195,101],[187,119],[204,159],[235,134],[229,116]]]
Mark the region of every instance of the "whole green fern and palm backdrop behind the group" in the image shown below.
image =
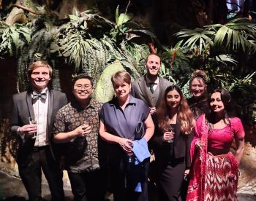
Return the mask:
[[[18,91],[23,91],[29,82],[26,74],[29,64],[41,59],[48,60],[56,76],[61,59],[74,67],[73,74],[85,72],[96,83],[105,68],[116,62],[135,79],[144,74],[148,44],[153,43],[151,49],[162,56],[162,76],[181,86],[187,97],[190,74],[203,69],[208,74],[209,90],[227,88],[244,119],[256,122],[255,69],[247,67],[247,61],[255,57],[255,31],[255,24],[236,18],[224,25],[178,31],[176,46],[164,47],[154,33],[132,20],[132,14],[119,14],[117,7],[115,23],[89,11],[69,15],[65,20],[51,14],[25,24],[2,23],[0,56],[18,58]],[[110,76],[108,68],[108,79]],[[59,82],[54,82],[53,88],[59,89]],[[99,82],[97,90],[104,88],[105,83]]]

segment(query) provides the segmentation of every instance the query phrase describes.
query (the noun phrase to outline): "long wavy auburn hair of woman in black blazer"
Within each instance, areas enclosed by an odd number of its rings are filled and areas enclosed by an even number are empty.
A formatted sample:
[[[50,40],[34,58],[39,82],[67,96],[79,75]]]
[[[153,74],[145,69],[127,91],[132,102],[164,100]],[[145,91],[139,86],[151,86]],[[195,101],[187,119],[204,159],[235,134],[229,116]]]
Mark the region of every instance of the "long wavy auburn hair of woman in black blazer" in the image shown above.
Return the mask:
[[[165,95],[162,98],[159,108],[157,109],[159,128],[162,130],[162,132],[165,132],[167,130],[170,109],[167,106],[166,97],[167,93],[173,90],[176,90],[181,96],[181,102],[179,103],[177,110],[177,119],[179,122],[181,122],[181,132],[189,134],[191,133],[192,128],[195,126],[195,119],[192,111],[189,109],[186,98],[184,97],[181,89],[177,85],[167,87],[167,89],[165,90]]]

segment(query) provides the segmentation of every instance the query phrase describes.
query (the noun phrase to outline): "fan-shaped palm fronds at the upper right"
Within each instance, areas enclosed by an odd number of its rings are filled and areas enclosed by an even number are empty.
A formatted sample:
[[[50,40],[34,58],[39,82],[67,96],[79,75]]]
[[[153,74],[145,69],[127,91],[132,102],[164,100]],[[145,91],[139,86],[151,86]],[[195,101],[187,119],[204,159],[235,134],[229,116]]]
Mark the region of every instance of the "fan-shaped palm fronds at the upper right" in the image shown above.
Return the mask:
[[[176,33],[180,39],[185,39],[184,47],[194,50],[195,54],[203,56],[221,55],[234,51],[255,52],[256,25],[246,18],[230,20],[225,25],[206,25],[195,30],[181,30]],[[211,52],[208,52],[211,50]]]

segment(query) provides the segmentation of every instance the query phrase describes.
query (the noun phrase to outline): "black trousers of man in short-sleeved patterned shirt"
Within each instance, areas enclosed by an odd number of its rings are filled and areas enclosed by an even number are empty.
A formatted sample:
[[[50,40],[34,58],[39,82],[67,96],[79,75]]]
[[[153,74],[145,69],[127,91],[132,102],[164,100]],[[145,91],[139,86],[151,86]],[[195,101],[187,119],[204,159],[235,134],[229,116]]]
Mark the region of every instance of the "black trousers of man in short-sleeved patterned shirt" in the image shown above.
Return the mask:
[[[75,201],[101,201],[105,193],[105,180],[101,170],[90,173],[70,173],[69,181]]]

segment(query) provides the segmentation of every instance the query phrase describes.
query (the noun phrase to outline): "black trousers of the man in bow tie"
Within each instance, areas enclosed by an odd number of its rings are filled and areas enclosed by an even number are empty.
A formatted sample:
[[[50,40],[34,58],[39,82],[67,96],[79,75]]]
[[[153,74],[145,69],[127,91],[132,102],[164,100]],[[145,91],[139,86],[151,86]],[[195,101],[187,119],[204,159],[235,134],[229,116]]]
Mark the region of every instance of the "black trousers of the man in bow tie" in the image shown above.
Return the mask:
[[[42,170],[41,170],[42,168]],[[34,149],[29,163],[18,165],[20,178],[29,194],[30,201],[42,200],[42,171],[48,181],[51,200],[64,200],[63,173],[50,153],[50,147]]]

